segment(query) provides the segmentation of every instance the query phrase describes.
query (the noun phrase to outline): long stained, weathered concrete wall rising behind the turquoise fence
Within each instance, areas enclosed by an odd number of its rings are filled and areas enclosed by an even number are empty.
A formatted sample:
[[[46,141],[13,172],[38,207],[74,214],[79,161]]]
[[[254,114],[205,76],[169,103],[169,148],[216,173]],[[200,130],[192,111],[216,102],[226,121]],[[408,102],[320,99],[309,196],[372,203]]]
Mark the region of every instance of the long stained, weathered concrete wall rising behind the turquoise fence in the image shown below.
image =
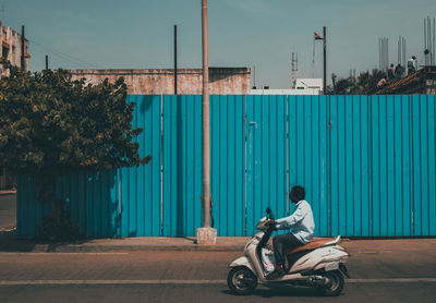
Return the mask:
[[[174,70],[72,70],[73,80],[86,78],[97,84],[105,78],[113,83],[124,77],[129,94],[132,95],[172,95],[174,94]],[[251,69],[210,68],[209,94],[245,95],[250,94]],[[178,94],[199,95],[203,93],[203,70],[178,70]]]

